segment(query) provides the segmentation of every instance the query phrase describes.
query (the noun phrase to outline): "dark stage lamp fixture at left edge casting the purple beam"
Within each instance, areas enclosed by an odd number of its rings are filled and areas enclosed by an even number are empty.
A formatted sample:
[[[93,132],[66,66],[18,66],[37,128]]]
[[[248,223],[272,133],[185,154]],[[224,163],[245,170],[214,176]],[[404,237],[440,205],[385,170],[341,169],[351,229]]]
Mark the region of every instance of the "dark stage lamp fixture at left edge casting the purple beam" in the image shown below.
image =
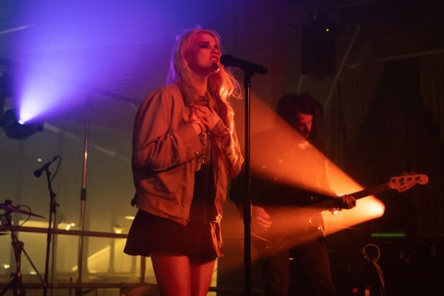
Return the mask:
[[[43,123],[25,123],[18,121],[16,109],[9,109],[3,115],[1,120],[1,128],[3,128],[7,137],[16,140],[24,140],[34,135],[36,132],[43,130]]]

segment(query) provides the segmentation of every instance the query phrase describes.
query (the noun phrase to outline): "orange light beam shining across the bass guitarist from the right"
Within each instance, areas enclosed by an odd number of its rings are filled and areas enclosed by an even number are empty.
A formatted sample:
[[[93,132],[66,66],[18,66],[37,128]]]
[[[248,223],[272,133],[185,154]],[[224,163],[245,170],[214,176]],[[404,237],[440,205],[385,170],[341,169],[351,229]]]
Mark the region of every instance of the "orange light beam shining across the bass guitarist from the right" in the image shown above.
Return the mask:
[[[252,114],[253,118],[275,118],[272,131],[261,130],[252,134],[250,142],[252,175],[269,180],[270,183],[283,183],[332,198],[363,189],[318,149],[311,147],[312,145],[304,137],[261,101],[254,101]],[[323,177],[326,177],[328,183],[319,182],[320,172],[325,172]],[[254,203],[254,197],[252,200]],[[329,235],[381,217],[384,210],[384,204],[374,195],[359,199],[354,209],[338,211],[335,215],[331,211],[322,211],[316,205],[309,208],[294,208],[290,211],[285,210],[278,216],[272,215],[274,222],[271,230],[267,230],[268,233],[254,233],[252,239],[259,237],[260,240],[262,236],[273,239],[286,238],[280,240],[281,245],[273,246],[274,249],[285,249],[312,240],[317,235]],[[311,221],[311,217],[315,216],[314,213],[320,211],[324,219],[323,226],[322,223],[318,226],[316,221]],[[307,232],[310,225],[319,227],[319,232]],[[264,240],[264,243],[271,243],[267,240]]]

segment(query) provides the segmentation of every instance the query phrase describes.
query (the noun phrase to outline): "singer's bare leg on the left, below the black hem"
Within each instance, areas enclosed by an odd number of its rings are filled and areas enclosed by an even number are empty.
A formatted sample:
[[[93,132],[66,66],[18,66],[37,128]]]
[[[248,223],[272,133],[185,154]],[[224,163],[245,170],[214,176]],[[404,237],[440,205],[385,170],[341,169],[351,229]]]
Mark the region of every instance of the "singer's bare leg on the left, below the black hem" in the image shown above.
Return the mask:
[[[190,259],[183,255],[151,254],[161,296],[191,296]]]

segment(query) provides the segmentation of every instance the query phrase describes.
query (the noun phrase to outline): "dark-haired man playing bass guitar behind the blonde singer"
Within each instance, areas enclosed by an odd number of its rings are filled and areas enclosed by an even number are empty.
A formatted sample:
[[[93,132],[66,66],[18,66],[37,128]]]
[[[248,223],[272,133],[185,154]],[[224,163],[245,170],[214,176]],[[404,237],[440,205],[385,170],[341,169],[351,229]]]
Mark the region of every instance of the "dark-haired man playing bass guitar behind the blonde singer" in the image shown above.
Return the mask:
[[[260,149],[266,151],[263,157],[264,165],[275,162],[290,163],[289,173],[304,170],[300,178],[307,178],[321,186],[328,186],[326,180],[325,164],[309,158],[310,150],[319,146],[318,132],[321,125],[321,105],[309,94],[288,94],[278,102],[276,112],[294,130],[300,134],[300,142],[296,147],[290,148],[280,144],[278,130],[259,132],[252,137],[252,151]],[[266,139],[266,144],[260,142]],[[307,156],[307,157],[305,157]],[[297,157],[297,162],[288,161]],[[315,180],[314,180],[315,179]],[[266,233],[273,230],[273,206],[299,205],[306,206],[320,202],[312,192],[295,189],[283,183],[276,182],[277,178],[259,178],[252,175],[252,233]],[[231,199],[238,205],[242,204],[240,195],[236,194],[238,185],[233,183]],[[350,195],[342,197],[343,208],[351,209],[356,205],[356,199]],[[239,208],[241,206],[238,206]],[[323,227],[320,212],[313,218],[314,225]],[[275,225],[276,226],[276,225]],[[313,228],[309,231],[319,231]],[[313,236],[314,239],[289,249],[279,249],[277,254],[261,258],[261,267],[264,272],[266,295],[335,295],[335,287],[331,274],[326,240],[323,235]],[[252,237],[252,247],[263,247],[264,242]],[[290,271],[290,260],[292,267]],[[291,274],[291,278],[290,278]],[[290,285],[291,283],[291,285]],[[290,287],[291,286],[291,287]]]

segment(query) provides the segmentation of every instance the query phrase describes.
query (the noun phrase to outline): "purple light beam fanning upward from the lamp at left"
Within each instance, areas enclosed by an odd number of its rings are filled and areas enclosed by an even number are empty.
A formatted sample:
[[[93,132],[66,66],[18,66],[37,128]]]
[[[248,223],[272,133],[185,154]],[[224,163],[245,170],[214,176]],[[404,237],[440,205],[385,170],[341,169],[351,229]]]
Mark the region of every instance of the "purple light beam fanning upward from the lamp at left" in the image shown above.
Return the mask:
[[[23,0],[13,10],[8,27],[20,30],[6,35],[20,122],[110,94],[141,101],[164,85],[175,35],[221,13],[206,2],[164,0]]]

